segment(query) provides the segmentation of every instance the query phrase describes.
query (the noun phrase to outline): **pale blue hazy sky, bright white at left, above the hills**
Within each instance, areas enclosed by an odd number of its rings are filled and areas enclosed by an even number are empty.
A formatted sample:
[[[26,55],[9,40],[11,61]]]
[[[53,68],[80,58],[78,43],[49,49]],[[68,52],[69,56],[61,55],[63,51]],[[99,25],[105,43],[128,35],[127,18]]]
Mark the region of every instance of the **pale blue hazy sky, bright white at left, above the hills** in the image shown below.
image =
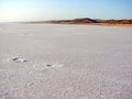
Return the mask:
[[[0,22],[132,19],[132,0],[0,0]]]

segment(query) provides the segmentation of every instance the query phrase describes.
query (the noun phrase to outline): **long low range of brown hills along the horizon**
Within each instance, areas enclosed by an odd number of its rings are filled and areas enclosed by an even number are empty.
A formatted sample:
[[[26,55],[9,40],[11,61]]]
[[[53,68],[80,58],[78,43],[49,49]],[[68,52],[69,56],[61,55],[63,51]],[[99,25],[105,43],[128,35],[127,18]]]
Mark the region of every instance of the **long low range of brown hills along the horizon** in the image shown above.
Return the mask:
[[[55,23],[55,24],[132,24],[131,20],[101,20],[101,19],[74,19],[74,20],[53,20],[41,21],[35,23]]]

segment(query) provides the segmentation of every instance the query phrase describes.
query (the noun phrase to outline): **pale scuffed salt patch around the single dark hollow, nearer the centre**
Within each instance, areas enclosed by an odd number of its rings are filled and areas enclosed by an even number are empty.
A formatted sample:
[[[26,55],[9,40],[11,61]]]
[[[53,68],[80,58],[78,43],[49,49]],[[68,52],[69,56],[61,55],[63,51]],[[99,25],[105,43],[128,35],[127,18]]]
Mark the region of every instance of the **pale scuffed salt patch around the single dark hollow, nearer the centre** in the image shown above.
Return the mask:
[[[36,69],[50,69],[50,68],[56,68],[56,67],[62,67],[63,64],[58,64],[58,63],[41,63],[41,64],[36,64],[34,66],[34,68]]]

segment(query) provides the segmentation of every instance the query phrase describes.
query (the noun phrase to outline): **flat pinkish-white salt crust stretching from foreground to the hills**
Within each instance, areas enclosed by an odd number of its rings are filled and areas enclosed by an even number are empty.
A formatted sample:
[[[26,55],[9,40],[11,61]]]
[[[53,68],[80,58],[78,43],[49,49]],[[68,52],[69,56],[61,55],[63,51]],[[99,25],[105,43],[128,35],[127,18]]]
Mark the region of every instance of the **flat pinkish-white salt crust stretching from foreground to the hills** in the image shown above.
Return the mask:
[[[0,99],[132,99],[132,28],[1,23]]]

